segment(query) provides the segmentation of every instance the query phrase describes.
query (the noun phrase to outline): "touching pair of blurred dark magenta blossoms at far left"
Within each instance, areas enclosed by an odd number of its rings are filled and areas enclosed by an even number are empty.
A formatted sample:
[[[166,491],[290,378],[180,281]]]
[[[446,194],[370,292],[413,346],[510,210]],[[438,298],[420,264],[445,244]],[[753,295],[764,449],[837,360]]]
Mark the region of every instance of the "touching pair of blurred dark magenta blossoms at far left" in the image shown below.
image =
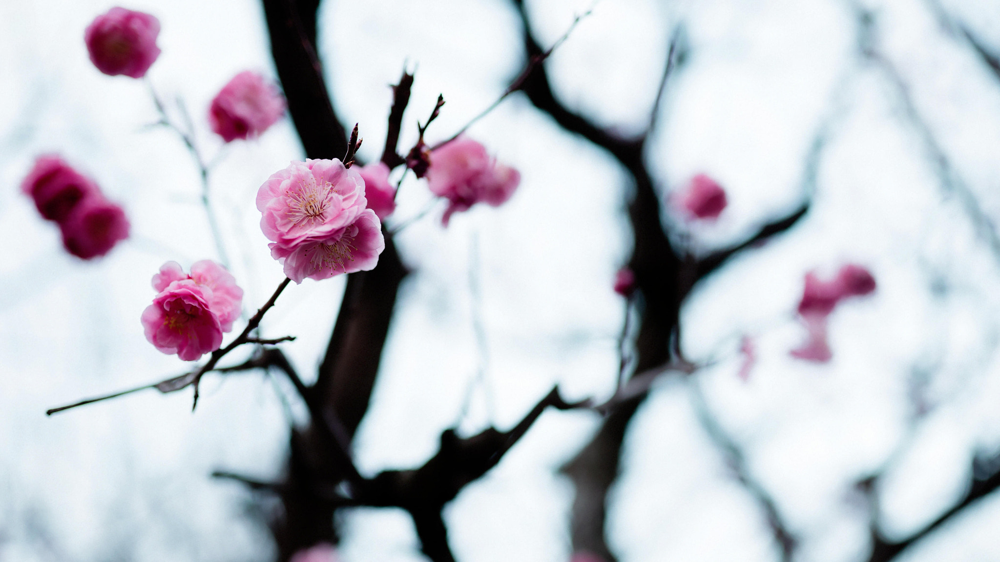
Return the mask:
[[[125,211],[108,201],[100,187],[58,156],[41,156],[21,183],[43,218],[56,222],[63,246],[89,260],[111,251],[128,238]]]

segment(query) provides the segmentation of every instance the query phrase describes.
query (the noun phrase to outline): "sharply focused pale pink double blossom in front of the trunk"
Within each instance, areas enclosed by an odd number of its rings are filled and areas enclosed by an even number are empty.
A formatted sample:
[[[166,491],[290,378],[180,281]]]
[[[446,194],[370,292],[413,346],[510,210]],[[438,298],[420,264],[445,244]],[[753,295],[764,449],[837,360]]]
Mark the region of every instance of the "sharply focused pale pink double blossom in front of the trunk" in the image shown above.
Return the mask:
[[[296,283],[374,269],[385,249],[364,179],[338,159],[292,162],[272,174],[257,191],[257,209],[271,256]]]

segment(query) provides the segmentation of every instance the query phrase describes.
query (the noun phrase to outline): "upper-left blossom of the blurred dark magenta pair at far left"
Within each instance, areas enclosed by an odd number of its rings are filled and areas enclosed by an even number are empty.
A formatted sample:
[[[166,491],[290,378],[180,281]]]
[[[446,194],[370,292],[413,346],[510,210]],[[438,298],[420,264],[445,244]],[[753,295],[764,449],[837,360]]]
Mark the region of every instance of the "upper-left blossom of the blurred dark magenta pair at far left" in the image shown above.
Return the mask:
[[[61,222],[85,198],[99,193],[97,185],[54,155],[40,156],[21,183],[48,220]]]

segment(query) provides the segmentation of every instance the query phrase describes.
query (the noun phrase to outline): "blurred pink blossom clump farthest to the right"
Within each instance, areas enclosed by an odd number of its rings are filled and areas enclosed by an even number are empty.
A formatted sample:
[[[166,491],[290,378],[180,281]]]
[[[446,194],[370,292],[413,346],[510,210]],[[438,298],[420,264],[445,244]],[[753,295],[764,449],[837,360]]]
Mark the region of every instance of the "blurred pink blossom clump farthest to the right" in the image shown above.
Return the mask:
[[[792,357],[825,363],[833,357],[827,340],[827,320],[845,298],[863,296],[875,290],[875,278],[864,267],[847,264],[836,277],[823,281],[810,271],[799,301],[799,319],[806,328],[806,341],[791,351]]]

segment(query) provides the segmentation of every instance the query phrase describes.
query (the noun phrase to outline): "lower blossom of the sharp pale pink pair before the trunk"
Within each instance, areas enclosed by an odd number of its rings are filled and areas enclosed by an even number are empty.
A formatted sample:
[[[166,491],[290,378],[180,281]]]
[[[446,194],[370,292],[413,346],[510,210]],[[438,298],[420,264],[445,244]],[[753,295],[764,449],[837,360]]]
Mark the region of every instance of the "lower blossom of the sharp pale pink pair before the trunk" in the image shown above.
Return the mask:
[[[268,246],[271,256],[284,266],[285,275],[301,283],[307,277],[318,281],[375,269],[385,240],[378,217],[365,209],[354,222],[328,235],[309,237],[291,247]]]

